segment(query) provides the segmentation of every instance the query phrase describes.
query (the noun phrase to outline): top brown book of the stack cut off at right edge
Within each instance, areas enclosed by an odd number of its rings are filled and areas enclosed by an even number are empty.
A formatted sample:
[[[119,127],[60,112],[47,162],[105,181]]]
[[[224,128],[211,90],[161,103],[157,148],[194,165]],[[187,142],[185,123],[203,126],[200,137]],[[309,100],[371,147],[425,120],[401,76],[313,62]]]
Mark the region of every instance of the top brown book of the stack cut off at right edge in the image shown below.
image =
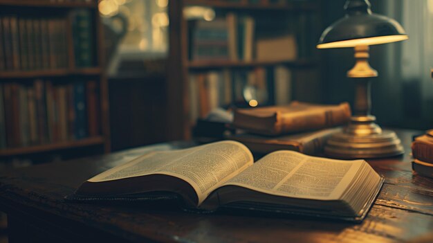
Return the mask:
[[[412,142],[412,156],[423,162],[433,164],[433,130],[418,136]]]

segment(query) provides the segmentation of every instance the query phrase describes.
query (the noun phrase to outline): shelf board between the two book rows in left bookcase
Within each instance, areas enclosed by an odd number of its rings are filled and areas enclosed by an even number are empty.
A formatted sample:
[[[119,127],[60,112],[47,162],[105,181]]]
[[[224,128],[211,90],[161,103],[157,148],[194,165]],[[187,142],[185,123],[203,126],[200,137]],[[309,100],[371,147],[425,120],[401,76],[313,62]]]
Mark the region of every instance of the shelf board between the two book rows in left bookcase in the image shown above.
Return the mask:
[[[38,78],[38,77],[59,77],[66,75],[99,75],[101,69],[84,68],[84,69],[48,69],[33,71],[0,71],[0,79],[4,78]]]

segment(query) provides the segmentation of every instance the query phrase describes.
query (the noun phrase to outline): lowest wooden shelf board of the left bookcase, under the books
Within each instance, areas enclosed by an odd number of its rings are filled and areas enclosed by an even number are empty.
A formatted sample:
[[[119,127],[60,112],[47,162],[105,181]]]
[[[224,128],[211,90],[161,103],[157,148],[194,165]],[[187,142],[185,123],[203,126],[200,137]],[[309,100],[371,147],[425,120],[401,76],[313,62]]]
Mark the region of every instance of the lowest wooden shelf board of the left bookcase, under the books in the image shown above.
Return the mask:
[[[75,147],[86,147],[91,145],[102,145],[104,138],[95,136],[92,138],[83,138],[77,141],[64,141],[59,143],[34,145],[29,147],[12,147],[0,150],[0,156],[14,156],[18,154],[34,154],[38,152],[49,152],[53,150],[62,150]]]

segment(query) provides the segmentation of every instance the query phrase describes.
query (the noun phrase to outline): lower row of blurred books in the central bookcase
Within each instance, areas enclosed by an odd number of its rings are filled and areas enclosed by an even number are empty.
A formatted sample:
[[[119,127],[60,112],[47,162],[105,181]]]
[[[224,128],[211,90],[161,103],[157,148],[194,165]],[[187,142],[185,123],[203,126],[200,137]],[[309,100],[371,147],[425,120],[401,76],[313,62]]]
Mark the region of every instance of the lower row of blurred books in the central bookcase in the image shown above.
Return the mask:
[[[283,105],[291,100],[291,70],[284,65],[251,70],[222,69],[190,73],[190,120],[205,118],[210,111],[230,105]]]

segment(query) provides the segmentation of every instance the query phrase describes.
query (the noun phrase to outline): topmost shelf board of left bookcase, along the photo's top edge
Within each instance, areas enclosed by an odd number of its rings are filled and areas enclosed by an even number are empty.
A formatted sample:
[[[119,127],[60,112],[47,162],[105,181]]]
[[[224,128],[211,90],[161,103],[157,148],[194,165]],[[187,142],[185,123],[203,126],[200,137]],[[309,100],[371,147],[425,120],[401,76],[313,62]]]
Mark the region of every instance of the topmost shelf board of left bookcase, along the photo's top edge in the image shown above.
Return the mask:
[[[43,8],[96,8],[95,2],[52,2],[49,0],[0,0],[0,6],[43,7]]]

